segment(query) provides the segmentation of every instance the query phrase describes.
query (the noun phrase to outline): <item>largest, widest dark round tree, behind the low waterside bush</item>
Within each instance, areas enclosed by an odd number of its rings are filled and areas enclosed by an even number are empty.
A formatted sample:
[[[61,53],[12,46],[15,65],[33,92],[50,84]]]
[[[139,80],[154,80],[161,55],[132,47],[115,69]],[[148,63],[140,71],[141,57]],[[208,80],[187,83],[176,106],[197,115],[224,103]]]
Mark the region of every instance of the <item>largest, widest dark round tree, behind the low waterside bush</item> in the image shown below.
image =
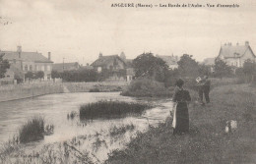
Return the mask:
[[[159,82],[164,82],[168,66],[166,63],[153,55],[153,53],[143,53],[133,60],[135,77],[147,77]]]

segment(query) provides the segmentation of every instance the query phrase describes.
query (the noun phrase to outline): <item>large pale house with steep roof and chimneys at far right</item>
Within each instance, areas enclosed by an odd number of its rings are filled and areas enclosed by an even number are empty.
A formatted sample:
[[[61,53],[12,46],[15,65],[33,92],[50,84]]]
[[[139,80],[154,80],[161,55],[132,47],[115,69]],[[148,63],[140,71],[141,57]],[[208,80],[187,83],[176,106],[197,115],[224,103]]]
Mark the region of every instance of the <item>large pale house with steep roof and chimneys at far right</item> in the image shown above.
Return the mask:
[[[256,56],[253,53],[249,42],[245,41],[244,45],[232,45],[231,43],[225,43],[221,46],[218,57],[224,60],[228,66],[240,68],[243,67],[244,61],[250,59],[251,61],[256,61]]]

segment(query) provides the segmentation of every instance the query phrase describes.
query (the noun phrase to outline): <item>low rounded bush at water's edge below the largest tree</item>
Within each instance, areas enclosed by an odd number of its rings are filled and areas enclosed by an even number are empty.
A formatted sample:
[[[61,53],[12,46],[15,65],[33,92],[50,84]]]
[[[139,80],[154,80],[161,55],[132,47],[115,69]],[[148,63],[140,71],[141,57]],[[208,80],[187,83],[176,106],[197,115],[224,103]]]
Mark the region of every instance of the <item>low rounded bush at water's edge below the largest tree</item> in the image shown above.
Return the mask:
[[[164,87],[163,82],[157,82],[152,79],[140,78],[131,82],[127,90],[123,91],[121,95],[126,96],[172,96],[173,87]]]

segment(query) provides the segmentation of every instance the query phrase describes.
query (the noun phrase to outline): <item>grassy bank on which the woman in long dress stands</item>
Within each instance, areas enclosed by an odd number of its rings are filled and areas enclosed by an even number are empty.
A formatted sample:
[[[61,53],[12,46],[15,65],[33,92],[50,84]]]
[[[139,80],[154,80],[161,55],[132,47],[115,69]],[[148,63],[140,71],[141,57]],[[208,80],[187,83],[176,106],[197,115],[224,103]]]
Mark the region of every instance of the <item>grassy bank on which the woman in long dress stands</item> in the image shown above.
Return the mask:
[[[190,134],[173,136],[171,121],[139,134],[106,163],[255,163],[256,88],[248,84],[215,87],[211,104],[189,106]],[[193,101],[197,94],[191,91]],[[226,121],[237,129],[226,134]]]

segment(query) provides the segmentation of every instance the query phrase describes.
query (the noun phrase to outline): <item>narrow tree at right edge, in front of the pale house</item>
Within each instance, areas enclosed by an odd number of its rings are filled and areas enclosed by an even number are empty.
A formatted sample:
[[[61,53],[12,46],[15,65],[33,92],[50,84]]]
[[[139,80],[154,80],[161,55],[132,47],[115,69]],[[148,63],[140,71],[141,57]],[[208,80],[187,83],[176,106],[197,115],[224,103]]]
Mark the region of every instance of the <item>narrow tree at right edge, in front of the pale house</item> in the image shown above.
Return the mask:
[[[243,63],[243,73],[245,75],[246,82],[252,82],[253,81],[255,71],[256,71],[256,65],[252,60],[247,59],[246,61],[244,61],[244,63]]]

